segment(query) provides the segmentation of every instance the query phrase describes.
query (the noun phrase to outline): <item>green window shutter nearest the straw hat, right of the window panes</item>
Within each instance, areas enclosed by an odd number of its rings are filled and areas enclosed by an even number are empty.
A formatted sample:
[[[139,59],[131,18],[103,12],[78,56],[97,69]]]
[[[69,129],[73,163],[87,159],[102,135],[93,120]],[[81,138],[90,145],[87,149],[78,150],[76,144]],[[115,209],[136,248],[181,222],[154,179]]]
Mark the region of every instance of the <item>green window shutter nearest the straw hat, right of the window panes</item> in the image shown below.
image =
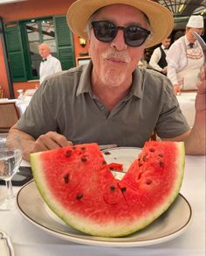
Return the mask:
[[[75,58],[73,51],[72,32],[66,24],[65,16],[54,17],[58,58],[62,69],[66,70],[75,67]]]

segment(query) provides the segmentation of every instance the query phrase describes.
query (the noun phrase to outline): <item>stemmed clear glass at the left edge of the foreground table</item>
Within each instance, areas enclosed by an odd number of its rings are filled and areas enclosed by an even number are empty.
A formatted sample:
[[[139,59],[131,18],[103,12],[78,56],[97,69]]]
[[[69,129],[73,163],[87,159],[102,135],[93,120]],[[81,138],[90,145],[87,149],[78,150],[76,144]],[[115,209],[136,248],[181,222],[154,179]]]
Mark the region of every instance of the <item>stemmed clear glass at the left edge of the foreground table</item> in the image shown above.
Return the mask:
[[[11,178],[22,160],[21,141],[17,133],[0,133],[0,179],[5,181],[7,198],[0,202],[0,210],[16,209]]]

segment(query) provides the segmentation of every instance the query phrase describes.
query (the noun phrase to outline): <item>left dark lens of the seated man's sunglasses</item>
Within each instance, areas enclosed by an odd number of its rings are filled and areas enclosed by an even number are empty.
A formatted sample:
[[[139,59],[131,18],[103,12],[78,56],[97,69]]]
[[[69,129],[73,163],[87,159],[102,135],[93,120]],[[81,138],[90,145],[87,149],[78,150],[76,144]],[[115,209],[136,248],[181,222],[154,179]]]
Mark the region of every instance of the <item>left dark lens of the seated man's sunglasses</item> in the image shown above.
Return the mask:
[[[111,42],[117,35],[118,28],[108,21],[93,21],[93,32],[97,39],[102,42]]]

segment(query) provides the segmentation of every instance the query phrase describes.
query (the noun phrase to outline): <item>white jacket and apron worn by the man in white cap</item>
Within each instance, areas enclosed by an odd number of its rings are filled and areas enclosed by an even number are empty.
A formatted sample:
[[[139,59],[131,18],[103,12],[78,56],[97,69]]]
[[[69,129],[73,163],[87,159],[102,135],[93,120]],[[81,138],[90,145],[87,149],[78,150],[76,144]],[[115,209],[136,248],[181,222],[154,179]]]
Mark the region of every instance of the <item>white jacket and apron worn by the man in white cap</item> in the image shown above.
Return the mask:
[[[168,78],[181,89],[196,89],[198,75],[204,63],[203,49],[196,40],[189,48],[186,36],[177,39],[169,48],[167,58]]]

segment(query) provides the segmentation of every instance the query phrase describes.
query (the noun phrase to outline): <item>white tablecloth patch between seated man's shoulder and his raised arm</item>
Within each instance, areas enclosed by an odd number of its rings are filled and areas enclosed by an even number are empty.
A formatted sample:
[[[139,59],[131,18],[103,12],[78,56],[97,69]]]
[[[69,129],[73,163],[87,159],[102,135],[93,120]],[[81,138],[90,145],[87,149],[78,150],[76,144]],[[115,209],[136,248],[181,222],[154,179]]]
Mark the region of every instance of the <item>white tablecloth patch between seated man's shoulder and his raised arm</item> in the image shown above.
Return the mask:
[[[189,127],[192,127],[195,122],[196,109],[196,93],[195,92],[182,92],[180,96],[176,96],[178,103],[180,104],[180,108],[182,110],[182,114],[188,121]]]

